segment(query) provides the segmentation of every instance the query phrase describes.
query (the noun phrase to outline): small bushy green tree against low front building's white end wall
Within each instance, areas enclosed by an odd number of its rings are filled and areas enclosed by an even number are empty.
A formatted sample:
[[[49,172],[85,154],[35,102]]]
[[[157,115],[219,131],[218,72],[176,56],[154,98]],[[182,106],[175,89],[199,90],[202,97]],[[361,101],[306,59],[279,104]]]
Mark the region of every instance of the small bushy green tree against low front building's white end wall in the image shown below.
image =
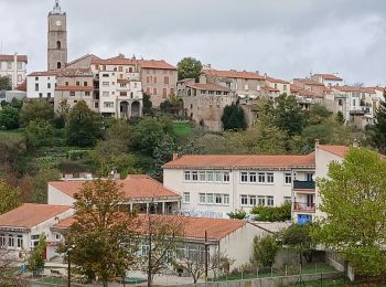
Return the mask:
[[[278,245],[276,236],[256,236],[254,238],[254,263],[258,267],[271,267],[279,248],[280,246]]]

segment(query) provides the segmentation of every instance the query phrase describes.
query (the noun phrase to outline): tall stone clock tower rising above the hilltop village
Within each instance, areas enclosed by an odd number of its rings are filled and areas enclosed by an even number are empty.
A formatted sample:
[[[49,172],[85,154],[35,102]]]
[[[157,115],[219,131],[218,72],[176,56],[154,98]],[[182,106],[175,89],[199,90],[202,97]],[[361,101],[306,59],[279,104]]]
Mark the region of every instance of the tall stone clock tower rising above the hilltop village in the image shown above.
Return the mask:
[[[49,71],[63,68],[67,63],[66,26],[66,13],[62,11],[58,0],[55,0],[54,9],[49,13]]]

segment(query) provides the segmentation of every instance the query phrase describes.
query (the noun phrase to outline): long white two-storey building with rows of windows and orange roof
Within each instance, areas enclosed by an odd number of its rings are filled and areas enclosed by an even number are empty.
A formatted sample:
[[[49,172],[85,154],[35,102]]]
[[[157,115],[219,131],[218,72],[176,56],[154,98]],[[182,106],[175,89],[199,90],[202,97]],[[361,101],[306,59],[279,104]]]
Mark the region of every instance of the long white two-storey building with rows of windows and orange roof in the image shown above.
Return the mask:
[[[184,214],[227,217],[236,210],[249,212],[256,205],[279,206],[291,201],[292,182],[301,190],[314,185],[314,153],[182,156],[163,166],[163,184],[182,196]],[[313,204],[314,194],[297,206],[308,210]]]

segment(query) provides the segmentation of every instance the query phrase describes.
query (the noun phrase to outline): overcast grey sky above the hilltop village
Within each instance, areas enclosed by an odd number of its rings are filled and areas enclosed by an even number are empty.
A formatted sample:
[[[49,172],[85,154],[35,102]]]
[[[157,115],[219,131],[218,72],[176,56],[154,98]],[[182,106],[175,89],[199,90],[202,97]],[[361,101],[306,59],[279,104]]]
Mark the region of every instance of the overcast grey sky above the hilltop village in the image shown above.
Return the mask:
[[[54,0],[0,0],[2,53],[46,68],[46,17]],[[61,0],[68,60],[184,56],[218,70],[285,79],[339,73],[386,85],[385,0]]]

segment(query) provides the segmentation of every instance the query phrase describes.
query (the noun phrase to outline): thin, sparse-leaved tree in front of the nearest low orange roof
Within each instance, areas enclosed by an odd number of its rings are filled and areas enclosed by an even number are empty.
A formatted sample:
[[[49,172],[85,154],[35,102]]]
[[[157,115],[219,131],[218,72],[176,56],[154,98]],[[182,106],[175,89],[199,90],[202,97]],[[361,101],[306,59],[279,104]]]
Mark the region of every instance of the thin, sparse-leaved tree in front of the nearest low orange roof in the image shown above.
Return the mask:
[[[174,262],[184,234],[184,220],[179,216],[143,215],[142,243],[147,251],[140,257],[139,267],[148,274],[148,286],[152,286],[156,274],[167,270]]]

